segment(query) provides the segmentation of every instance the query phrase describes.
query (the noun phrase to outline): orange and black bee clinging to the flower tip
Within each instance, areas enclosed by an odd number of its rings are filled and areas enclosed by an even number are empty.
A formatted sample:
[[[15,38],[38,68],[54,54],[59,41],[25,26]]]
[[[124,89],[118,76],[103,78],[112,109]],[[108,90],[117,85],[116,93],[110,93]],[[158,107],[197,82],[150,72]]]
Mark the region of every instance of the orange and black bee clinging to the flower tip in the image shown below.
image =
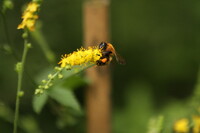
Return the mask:
[[[99,49],[101,49],[102,57],[96,62],[97,66],[108,64],[112,60],[113,56],[115,56],[115,59],[119,64],[126,64],[125,60],[115,51],[112,44],[101,42],[99,44]]]

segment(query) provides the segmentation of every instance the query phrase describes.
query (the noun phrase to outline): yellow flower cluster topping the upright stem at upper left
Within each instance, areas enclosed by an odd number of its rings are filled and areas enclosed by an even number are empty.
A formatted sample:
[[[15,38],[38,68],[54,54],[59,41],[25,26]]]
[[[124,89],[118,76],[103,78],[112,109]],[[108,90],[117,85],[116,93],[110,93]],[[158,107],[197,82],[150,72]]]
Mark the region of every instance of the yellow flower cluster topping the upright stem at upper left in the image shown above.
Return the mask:
[[[27,27],[30,31],[34,31],[35,22],[38,19],[38,16],[35,14],[38,10],[38,3],[30,2],[22,15],[22,22],[18,25],[17,29],[24,29]]]

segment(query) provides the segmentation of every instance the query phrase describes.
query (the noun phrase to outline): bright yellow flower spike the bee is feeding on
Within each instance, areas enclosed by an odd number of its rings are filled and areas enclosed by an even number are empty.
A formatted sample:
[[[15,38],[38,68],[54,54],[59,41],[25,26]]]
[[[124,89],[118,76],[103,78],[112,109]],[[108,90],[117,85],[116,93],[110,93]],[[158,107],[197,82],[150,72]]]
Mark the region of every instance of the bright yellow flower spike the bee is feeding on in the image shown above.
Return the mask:
[[[58,64],[61,64],[61,67],[66,67],[67,65],[81,65],[85,63],[96,64],[96,61],[99,60],[101,56],[101,50],[97,47],[89,47],[87,49],[80,48],[71,54],[65,54]]]

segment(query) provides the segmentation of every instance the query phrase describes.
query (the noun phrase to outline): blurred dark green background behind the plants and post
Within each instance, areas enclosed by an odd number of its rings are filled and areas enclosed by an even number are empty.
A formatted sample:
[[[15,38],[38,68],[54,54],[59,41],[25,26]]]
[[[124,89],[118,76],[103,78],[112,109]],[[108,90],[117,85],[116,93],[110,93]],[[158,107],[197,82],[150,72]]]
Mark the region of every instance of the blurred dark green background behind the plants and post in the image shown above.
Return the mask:
[[[0,19],[0,132],[12,132],[17,73],[16,57],[23,50],[21,22],[22,6],[29,1],[13,1],[14,8],[6,12],[11,48]],[[83,74],[67,84],[73,89],[80,112],[60,106],[49,99],[41,113],[33,111],[32,100],[41,73],[52,69],[62,54],[82,46],[83,13],[81,0],[44,0],[39,13],[41,33],[54,52],[50,63],[37,41],[31,37],[23,80],[24,97],[20,107],[20,132],[82,133],[86,132],[84,88],[88,84]],[[2,1],[0,2],[2,6]],[[200,1],[113,0],[110,2],[111,43],[127,64],[113,61],[112,70],[112,131],[113,133],[148,132],[150,119],[163,116],[163,132],[172,132],[172,124],[192,115],[188,99],[197,85],[200,53]],[[9,47],[8,47],[9,48]],[[71,86],[70,86],[71,85]],[[55,108],[60,110],[55,111]],[[188,109],[191,109],[188,111]],[[195,110],[195,109],[194,109]]]

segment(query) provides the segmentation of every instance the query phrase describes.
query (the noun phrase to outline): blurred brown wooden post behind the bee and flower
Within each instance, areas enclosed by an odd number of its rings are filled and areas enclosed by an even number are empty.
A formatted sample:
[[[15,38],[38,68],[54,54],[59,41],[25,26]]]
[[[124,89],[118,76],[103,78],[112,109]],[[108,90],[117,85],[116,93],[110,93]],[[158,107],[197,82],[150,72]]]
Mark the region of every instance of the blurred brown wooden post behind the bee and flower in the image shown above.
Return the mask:
[[[109,40],[109,3],[103,0],[86,1],[83,6],[84,44],[98,45]],[[86,71],[92,84],[86,89],[87,133],[110,133],[110,71],[108,66]]]

